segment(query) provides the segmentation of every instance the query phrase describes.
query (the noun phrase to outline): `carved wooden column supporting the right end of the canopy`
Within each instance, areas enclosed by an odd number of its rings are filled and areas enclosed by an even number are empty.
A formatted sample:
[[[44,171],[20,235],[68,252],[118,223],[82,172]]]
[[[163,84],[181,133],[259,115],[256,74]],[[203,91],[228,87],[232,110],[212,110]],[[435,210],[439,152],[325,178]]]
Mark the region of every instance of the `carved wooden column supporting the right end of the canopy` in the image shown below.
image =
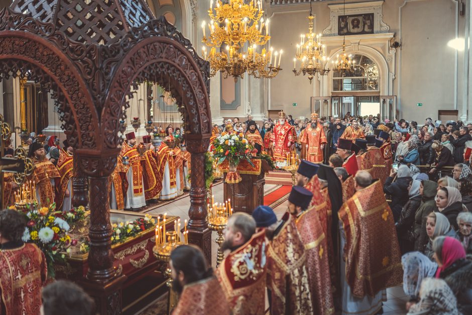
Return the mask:
[[[185,135],[187,150],[191,154],[190,209],[188,216],[188,242],[200,247],[211,264],[211,231],[206,220],[205,152],[210,135]]]

